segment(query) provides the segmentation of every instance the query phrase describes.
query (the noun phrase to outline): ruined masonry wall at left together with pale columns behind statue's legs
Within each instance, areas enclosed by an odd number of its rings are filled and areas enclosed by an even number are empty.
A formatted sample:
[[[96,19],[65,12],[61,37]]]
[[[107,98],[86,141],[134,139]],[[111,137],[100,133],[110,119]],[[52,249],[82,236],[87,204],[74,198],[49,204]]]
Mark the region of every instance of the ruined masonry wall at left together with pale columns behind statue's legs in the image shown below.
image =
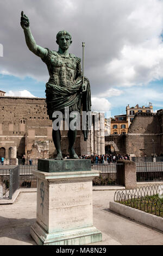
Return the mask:
[[[0,97],[0,154],[5,159],[22,157],[48,158],[55,155],[52,140],[52,120],[49,120],[46,101],[39,97]],[[94,113],[94,115],[99,113]],[[104,115],[102,116],[104,120]],[[103,121],[104,123],[104,121]],[[67,131],[62,132],[63,155],[68,154]],[[85,142],[82,131],[78,131],[75,142],[76,153],[80,155],[104,154],[104,126],[95,131],[92,124]]]

